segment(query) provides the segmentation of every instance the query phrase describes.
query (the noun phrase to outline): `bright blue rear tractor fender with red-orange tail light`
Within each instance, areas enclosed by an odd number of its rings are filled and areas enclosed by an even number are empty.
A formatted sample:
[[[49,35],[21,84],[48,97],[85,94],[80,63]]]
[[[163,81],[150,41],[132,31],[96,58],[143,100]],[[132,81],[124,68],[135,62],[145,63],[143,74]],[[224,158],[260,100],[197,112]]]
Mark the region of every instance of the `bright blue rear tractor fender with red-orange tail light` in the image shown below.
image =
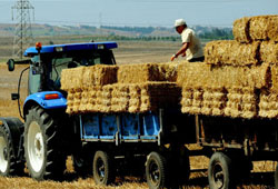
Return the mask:
[[[53,97],[50,97],[52,96]],[[50,97],[50,98],[47,98]],[[43,91],[32,93],[27,97],[24,105],[23,105],[23,115],[28,113],[28,110],[32,106],[40,106],[46,110],[50,109],[66,109],[67,108],[67,99],[59,91]]]

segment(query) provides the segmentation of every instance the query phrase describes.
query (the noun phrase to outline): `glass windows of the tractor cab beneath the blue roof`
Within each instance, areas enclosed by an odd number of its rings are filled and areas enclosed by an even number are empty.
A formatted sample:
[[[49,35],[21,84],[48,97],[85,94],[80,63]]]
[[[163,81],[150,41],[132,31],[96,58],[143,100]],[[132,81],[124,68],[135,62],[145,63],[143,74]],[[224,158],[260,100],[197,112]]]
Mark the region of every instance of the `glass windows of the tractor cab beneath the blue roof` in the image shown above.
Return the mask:
[[[33,57],[33,61],[38,56]],[[96,51],[72,51],[72,52],[57,52],[54,54],[41,54],[41,63],[47,64],[43,68],[47,73],[47,84],[44,83],[42,90],[60,90],[61,71],[62,69],[77,68],[80,66],[89,67],[95,64],[115,64],[115,58],[111,50],[96,50]],[[38,92],[40,84],[40,77],[36,67],[31,67],[29,79],[29,92]]]

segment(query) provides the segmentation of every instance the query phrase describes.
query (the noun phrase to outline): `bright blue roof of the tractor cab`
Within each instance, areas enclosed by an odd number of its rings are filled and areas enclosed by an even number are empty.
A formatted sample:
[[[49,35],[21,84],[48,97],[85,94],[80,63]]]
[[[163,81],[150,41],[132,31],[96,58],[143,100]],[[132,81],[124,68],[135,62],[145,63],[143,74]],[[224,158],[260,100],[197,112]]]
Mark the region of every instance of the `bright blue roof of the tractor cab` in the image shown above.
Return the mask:
[[[53,44],[42,46],[40,53],[67,52],[78,50],[98,50],[117,48],[116,42],[87,42],[87,43],[70,43],[70,44]],[[38,54],[36,47],[30,47],[26,50],[24,57],[33,57]]]

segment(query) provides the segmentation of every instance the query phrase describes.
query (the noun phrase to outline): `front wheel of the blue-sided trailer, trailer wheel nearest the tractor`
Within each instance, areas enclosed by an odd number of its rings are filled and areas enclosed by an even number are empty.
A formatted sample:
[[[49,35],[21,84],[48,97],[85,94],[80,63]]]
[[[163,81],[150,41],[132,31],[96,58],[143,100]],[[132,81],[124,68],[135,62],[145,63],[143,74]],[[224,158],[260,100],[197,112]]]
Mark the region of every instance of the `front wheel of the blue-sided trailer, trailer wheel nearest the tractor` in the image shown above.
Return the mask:
[[[93,179],[97,185],[110,185],[115,181],[111,157],[105,151],[97,151],[92,163]]]

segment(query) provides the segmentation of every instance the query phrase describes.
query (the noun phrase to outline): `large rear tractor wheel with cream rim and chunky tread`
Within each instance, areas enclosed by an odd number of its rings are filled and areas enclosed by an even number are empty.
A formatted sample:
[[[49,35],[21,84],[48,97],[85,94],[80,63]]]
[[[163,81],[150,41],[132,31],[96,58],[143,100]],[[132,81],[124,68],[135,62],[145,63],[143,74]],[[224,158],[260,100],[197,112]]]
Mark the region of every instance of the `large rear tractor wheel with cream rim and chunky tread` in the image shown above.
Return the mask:
[[[66,169],[59,123],[40,107],[26,117],[24,156],[27,168],[36,180],[60,179]]]

